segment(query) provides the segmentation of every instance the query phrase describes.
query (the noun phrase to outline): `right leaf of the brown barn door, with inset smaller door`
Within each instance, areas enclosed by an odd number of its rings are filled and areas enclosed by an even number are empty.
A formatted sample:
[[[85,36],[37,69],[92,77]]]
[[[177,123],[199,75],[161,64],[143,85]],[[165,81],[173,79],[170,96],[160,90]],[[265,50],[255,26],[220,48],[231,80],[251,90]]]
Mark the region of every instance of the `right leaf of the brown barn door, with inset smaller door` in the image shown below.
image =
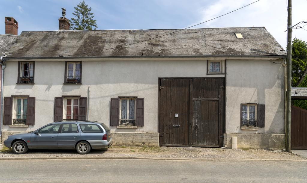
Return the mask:
[[[224,78],[194,78],[192,86],[192,146],[222,146]]]

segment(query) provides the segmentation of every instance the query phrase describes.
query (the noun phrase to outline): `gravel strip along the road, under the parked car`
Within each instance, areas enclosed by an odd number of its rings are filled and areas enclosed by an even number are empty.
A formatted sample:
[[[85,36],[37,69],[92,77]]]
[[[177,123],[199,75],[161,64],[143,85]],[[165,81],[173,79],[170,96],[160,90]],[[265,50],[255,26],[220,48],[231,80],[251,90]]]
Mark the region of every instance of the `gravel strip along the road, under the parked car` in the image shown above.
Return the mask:
[[[148,147],[111,146],[103,150],[92,150],[89,154],[78,154],[76,150],[29,150],[25,154],[14,154],[0,144],[0,158],[33,157],[140,157],[140,158],[188,158],[188,159],[291,159],[305,160],[285,151],[264,149],[225,149],[208,147]]]

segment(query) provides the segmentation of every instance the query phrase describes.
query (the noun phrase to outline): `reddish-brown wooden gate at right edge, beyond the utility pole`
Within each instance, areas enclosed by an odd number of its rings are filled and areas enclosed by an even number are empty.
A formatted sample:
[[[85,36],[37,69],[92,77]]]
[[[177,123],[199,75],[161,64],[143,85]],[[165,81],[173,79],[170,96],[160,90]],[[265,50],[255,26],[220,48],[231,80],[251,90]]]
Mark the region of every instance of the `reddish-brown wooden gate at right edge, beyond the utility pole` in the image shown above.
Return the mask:
[[[291,107],[291,149],[307,149],[307,110]]]

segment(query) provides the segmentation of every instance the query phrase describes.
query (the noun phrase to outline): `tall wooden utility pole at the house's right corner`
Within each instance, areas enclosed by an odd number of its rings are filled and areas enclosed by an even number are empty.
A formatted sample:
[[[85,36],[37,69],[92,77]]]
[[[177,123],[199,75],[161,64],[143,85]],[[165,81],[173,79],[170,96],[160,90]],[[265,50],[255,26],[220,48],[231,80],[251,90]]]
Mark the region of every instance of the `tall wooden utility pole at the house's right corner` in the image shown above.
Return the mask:
[[[286,151],[291,151],[292,0],[288,0]]]

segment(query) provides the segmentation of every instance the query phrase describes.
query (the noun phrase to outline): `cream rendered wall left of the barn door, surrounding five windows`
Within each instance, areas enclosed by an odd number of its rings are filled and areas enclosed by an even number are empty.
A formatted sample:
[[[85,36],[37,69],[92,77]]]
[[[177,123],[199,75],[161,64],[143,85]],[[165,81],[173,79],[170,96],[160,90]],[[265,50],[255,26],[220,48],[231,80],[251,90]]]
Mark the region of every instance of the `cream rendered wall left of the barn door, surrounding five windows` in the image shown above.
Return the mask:
[[[54,97],[62,95],[89,96],[89,120],[110,124],[110,98],[137,96],[145,98],[144,127],[112,132],[157,132],[158,78],[206,77],[207,60],[133,60],[83,61],[82,85],[64,83],[64,60],[35,62],[33,84],[16,84],[17,61],[7,61],[4,97],[30,95],[36,97],[35,125],[28,128],[8,127],[5,131],[31,131],[53,122]],[[223,75],[210,75],[219,77]]]

